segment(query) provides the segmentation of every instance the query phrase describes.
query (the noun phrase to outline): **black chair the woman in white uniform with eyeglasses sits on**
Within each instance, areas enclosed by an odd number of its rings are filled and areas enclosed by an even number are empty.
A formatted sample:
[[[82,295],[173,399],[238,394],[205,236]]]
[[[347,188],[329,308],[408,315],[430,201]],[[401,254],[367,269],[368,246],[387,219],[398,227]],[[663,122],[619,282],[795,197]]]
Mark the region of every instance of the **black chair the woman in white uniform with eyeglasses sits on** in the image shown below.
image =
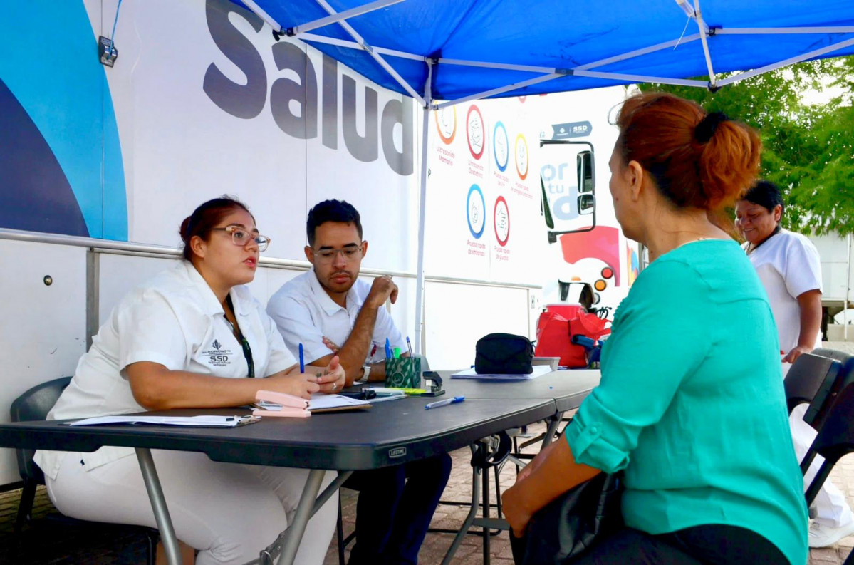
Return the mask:
[[[54,407],[59,399],[62,391],[65,390],[68,383],[71,382],[71,377],[62,377],[61,379],[50,380],[41,385],[33,386],[30,390],[24,392],[20,397],[15,398],[15,402],[9,408],[9,415],[12,421],[37,421],[47,418],[48,412]],[[35,450],[19,449],[15,450],[15,455],[18,458],[18,472],[20,478],[24,481],[23,490],[20,493],[20,503],[18,505],[18,515],[15,519],[15,535],[20,534],[24,522],[32,519],[32,503],[36,496],[36,487],[44,485],[44,473],[38,465],[32,461],[35,455]],[[104,527],[101,522],[90,522],[77,520],[62,516],[63,521],[68,524],[85,525],[91,524],[93,527]],[[110,524],[115,527],[116,525]],[[157,530],[144,526],[129,526],[132,528],[142,528],[148,545],[148,563],[155,565],[157,541],[159,533]]]

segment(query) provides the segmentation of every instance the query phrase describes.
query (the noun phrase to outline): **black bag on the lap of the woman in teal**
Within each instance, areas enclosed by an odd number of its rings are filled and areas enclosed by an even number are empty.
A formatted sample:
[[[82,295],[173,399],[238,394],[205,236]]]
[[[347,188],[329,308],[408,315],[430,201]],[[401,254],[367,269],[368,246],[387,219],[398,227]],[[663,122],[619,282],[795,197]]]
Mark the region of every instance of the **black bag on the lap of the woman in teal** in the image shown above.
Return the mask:
[[[622,474],[600,473],[537,512],[524,538],[510,535],[516,565],[565,565],[623,527]]]

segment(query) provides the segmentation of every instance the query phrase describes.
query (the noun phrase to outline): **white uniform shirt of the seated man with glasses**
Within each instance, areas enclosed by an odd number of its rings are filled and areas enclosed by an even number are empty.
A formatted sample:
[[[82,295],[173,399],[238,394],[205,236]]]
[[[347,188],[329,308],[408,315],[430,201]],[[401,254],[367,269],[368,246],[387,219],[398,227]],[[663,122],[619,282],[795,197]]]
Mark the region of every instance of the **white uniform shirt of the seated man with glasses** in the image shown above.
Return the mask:
[[[267,303],[267,314],[276,322],[291,353],[298,355],[302,344],[306,363],[311,363],[332,353],[323,343],[324,336],[339,346],[347,341],[370,291],[371,285],[357,279],[347,292],[347,308],[342,308],[326,294],[311,270],[282,285]],[[385,359],[386,338],[389,338],[393,350],[395,347],[400,347],[401,352],[407,350],[406,340],[395,327],[389,312],[381,306],[377,310],[377,323],[366,362]]]

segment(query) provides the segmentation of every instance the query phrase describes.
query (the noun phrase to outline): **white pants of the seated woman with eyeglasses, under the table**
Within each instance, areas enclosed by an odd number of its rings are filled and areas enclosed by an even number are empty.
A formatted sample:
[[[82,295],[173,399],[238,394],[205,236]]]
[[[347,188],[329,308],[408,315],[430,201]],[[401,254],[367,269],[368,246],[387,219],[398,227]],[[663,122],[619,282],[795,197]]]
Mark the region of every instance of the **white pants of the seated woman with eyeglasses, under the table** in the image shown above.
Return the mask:
[[[240,565],[258,557],[290,523],[307,469],[213,462],[202,453],[152,450],[175,533],[199,550],[197,565]],[[47,479],[56,509],[81,520],[157,527],[137,457],[86,472],[69,453]],[[335,478],[325,475],[323,486]],[[337,493],[308,521],[296,563],[320,565],[335,530]]]

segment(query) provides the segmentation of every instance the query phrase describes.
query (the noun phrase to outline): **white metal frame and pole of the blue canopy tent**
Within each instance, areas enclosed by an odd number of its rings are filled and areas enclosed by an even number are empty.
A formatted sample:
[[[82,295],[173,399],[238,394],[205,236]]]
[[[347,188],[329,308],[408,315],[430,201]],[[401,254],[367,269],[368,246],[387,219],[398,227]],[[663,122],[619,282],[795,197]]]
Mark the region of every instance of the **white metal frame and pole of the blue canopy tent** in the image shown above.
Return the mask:
[[[379,46],[374,46],[368,44],[364,38],[356,32],[353,26],[350,26],[348,23],[348,18],[352,18],[357,15],[362,15],[369,13],[371,11],[377,9],[383,9],[388,7],[389,5],[402,2],[403,0],[375,0],[371,3],[366,3],[361,6],[358,6],[353,9],[348,9],[343,12],[336,12],[326,0],[314,0],[318,5],[323,8],[328,16],[324,18],[320,18],[318,20],[309,21],[305,24],[301,24],[299,26],[291,27],[287,30],[284,30],[283,27],[278,24],[277,21],[273,20],[270,15],[266,13],[263,9],[258,6],[254,0],[243,0],[243,3],[249,7],[256,15],[258,15],[262,20],[264,20],[269,26],[272,27],[274,35],[284,35],[287,34],[290,37],[301,39],[306,42],[320,43],[320,44],[330,44],[335,45],[337,47],[346,47],[355,50],[364,50],[366,53],[371,56],[371,58],[377,62],[377,64],[382,67],[392,79],[395,79],[401,88],[407,92],[407,94],[414,98],[418,105],[423,109],[424,115],[422,120],[422,138],[421,138],[421,162],[419,166],[421,168],[421,179],[420,179],[420,196],[418,202],[418,279],[417,279],[417,288],[415,293],[415,304],[416,304],[416,314],[415,314],[415,351],[416,353],[421,353],[424,349],[424,333],[423,333],[423,322],[424,322],[424,209],[427,197],[427,141],[428,141],[428,131],[429,131],[429,120],[430,120],[430,110],[437,110],[442,108],[447,108],[448,106],[452,106],[454,104],[471,102],[476,100],[481,100],[483,98],[488,97],[496,97],[500,94],[504,94],[506,92],[511,92],[518,90],[520,88],[524,88],[526,86],[539,84],[542,82],[546,82],[548,80],[559,79],[561,77],[567,76],[579,76],[579,77],[590,77],[596,79],[606,79],[606,80],[614,80],[615,84],[624,84],[626,82],[629,83],[638,83],[638,82],[653,82],[659,84],[666,85],[681,85],[681,86],[695,86],[700,88],[708,88],[712,91],[717,90],[718,88],[730,85],[740,80],[749,79],[757,74],[768,73],[769,71],[773,71],[777,68],[786,67],[796,62],[806,61],[807,59],[811,59],[813,57],[827,55],[828,53],[832,53],[836,50],[845,49],[845,47],[854,45],[854,38],[846,39],[844,41],[840,41],[838,43],[830,44],[826,47],[822,47],[821,49],[811,50],[807,53],[803,53],[798,56],[790,57],[781,62],[771,63],[769,65],[765,65],[762,68],[753,69],[750,71],[746,71],[740,74],[735,74],[726,79],[718,80],[714,71],[714,67],[712,64],[711,51],[709,49],[709,41],[711,38],[717,35],[775,35],[775,34],[837,34],[837,33],[854,33],[854,26],[811,26],[811,27],[743,27],[743,28],[725,28],[725,27],[710,27],[703,20],[703,14],[699,6],[699,0],[693,0],[693,5],[691,0],[676,0],[676,5],[680,8],[690,21],[693,21],[697,28],[698,32],[693,33],[692,35],[683,36],[676,40],[665,41],[663,43],[649,45],[644,48],[640,48],[637,50],[632,50],[627,53],[623,53],[617,56],[607,57],[605,59],[601,59],[600,61],[588,62],[583,65],[578,65],[574,68],[548,68],[548,67],[538,67],[538,66],[529,66],[529,65],[519,65],[519,64],[510,64],[510,63],[500,63],[500,62],[486,62],[486,61],[465,61],[460,59],[447,59],[443,57],[429,57],[429,56],[420,56],[414,53],[407,53],[405,51],[400,50],[391,50],[386,49]],[[344,39],[338,38],[327,38],[322,35],[317,35],[315,33],[310,33],[314,29],[318,29],[319,27],[329,26],[331,24],[338,24],[342,26],[345,32],[353,38],[353,41],[348,41]],[[681,44],[691,43],[693,41],[697,41],[699,39],[700,44],[703,49],[703,56],[706,63],[706,68],[709,72],[709,80],[696,80],[696,79],[680,79],[676,77],[656,77],[656,76],[647,76],[642,74],[624,74],[624,73],[610,73],[605,71],[597,71],[595,68],[604,67],[605,65],[609,65],[614,62],[623,62],[628,61],[630,59],[634,59],[639,56],[648,55],[650,53],[673,48]],[[386,56],[400,57],[404,59],[409,59],[413,61],[421,61],[427,66],[427,79],[424,83],[424,95],[415,91],[415,89],[410,85],[394,68],[389,65],[389,62],[385,60]],[[531,79],[522,80],[519,82],[515,82],[511,85],[500,86],[497,88],[490,89],[488,91],[478,92],[476,94],[471,94],[465,97],[455,98],[453,100],[443,101],[442,103],[436,103],[434,98],[432,97],[431,92],[431,84],[433,79],[433,74],[436,72],[436,68],[440,65],[459,65],[464,67],[477,67],[477,68],[494,68],[500,70],[514,70],[514,71],[522,71],[522,72],[530,72],[538,74]]]

